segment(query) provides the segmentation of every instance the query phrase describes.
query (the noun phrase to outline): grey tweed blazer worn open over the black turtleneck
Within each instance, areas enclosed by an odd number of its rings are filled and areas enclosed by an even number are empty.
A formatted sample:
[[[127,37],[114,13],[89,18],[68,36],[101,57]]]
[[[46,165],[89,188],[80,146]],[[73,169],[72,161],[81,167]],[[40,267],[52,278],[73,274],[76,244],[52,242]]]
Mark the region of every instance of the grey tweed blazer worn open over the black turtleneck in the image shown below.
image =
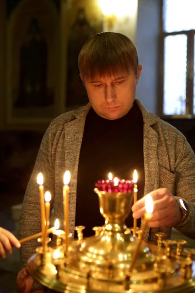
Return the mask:
[[[195,239],[195,154],[186,138],[175,127],[148,112],[136,100],[144,122],[144,195],[157,188],[168,188],[175,196],[189,204],[190,214],[183,224],[175,227],[188,237]],[[49,190],[55,203],[54,217],[59,218],[63,227],[62,187],[65,170],[71,172],[70,181],[70,232],[74,235],[77,197],[77,173],[80,146],[85,118],[90,104],[67,112],[54,119],[42,139],[39,154],[28,183],[20,218],[20,238],[41,230],[39,187],[37,175],[44,176],[44,190]],[[87,174],[86,174],[87,176]],[[97,196],[94,194],[94,196]],[[50,226],[53,226],[51,223]],[[156,240],[155,233],[163,231],[171,237],[171,229],[149,229],[145,240]],[[22,245],[21,262],[25,267],[28,258],[35,252],[38,242]],[[38,287],[35,286],[34,289]]]

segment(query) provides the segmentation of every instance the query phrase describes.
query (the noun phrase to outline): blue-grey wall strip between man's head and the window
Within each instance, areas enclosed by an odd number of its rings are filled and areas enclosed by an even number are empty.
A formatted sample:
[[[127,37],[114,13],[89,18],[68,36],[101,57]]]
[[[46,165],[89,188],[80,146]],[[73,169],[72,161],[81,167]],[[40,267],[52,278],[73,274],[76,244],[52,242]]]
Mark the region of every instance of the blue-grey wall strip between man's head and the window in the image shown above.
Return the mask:
[[[159,32],[160,0],[139,0],[136,45],[143,69],[137,86],[137,99],[154,114],[158,114]]]

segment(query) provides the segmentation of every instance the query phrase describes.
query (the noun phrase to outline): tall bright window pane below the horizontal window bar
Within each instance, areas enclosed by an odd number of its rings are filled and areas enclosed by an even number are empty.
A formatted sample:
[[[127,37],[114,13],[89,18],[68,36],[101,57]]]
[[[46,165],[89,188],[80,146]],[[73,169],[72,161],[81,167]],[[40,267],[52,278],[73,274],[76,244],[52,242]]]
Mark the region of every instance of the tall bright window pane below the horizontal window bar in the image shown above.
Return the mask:
[[[186,113],[187,36],[168,36],[164,40],[164,115]]]

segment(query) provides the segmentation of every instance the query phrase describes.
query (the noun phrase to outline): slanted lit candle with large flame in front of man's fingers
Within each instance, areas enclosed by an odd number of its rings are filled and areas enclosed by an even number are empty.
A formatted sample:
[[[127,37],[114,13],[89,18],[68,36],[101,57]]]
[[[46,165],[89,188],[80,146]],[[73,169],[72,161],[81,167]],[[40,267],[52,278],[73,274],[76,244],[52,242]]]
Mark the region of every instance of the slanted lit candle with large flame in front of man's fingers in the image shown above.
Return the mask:
[[[146,212],[144,214],[143,229],[142,229],[142,233],[140,235],[140,239],[139,239],[139,241],[137,243],[137,248],[136,248],[136,250],[134,252],[134,255],[133,255],[133,259],[132,259],[132,263],[131,263],[131,266],[130,266],[130,269],[129,269],[129,273],[131,273],[133,271],[134,266],[136,264],[137,256],[138,256],[140,246],[141,246],[141,240],[143,239],[143,235],[144,235],[146,227],[148,225],[148,221],[151,220],[152,216],[153,216],[153,208],[154,208],[154,205],[153,205],[152,196],[150,194],[147,194],[145,196],[145,209],[146,209]]]

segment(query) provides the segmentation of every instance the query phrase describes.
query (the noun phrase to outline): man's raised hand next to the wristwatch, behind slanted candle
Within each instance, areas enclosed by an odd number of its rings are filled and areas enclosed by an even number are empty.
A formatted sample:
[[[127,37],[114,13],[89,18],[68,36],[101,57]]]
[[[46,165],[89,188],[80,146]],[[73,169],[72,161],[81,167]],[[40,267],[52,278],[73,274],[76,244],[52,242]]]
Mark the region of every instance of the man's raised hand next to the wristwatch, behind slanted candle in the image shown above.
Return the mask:
[[[167,188],[159,188],[150,192],[154,212],[152,219],[148,222],[151,228],[156,227],[175,227],[181,222],[181,212],[173,194]],[[132,207],[135,219],[144,218],[145,197],[137,201]]]

